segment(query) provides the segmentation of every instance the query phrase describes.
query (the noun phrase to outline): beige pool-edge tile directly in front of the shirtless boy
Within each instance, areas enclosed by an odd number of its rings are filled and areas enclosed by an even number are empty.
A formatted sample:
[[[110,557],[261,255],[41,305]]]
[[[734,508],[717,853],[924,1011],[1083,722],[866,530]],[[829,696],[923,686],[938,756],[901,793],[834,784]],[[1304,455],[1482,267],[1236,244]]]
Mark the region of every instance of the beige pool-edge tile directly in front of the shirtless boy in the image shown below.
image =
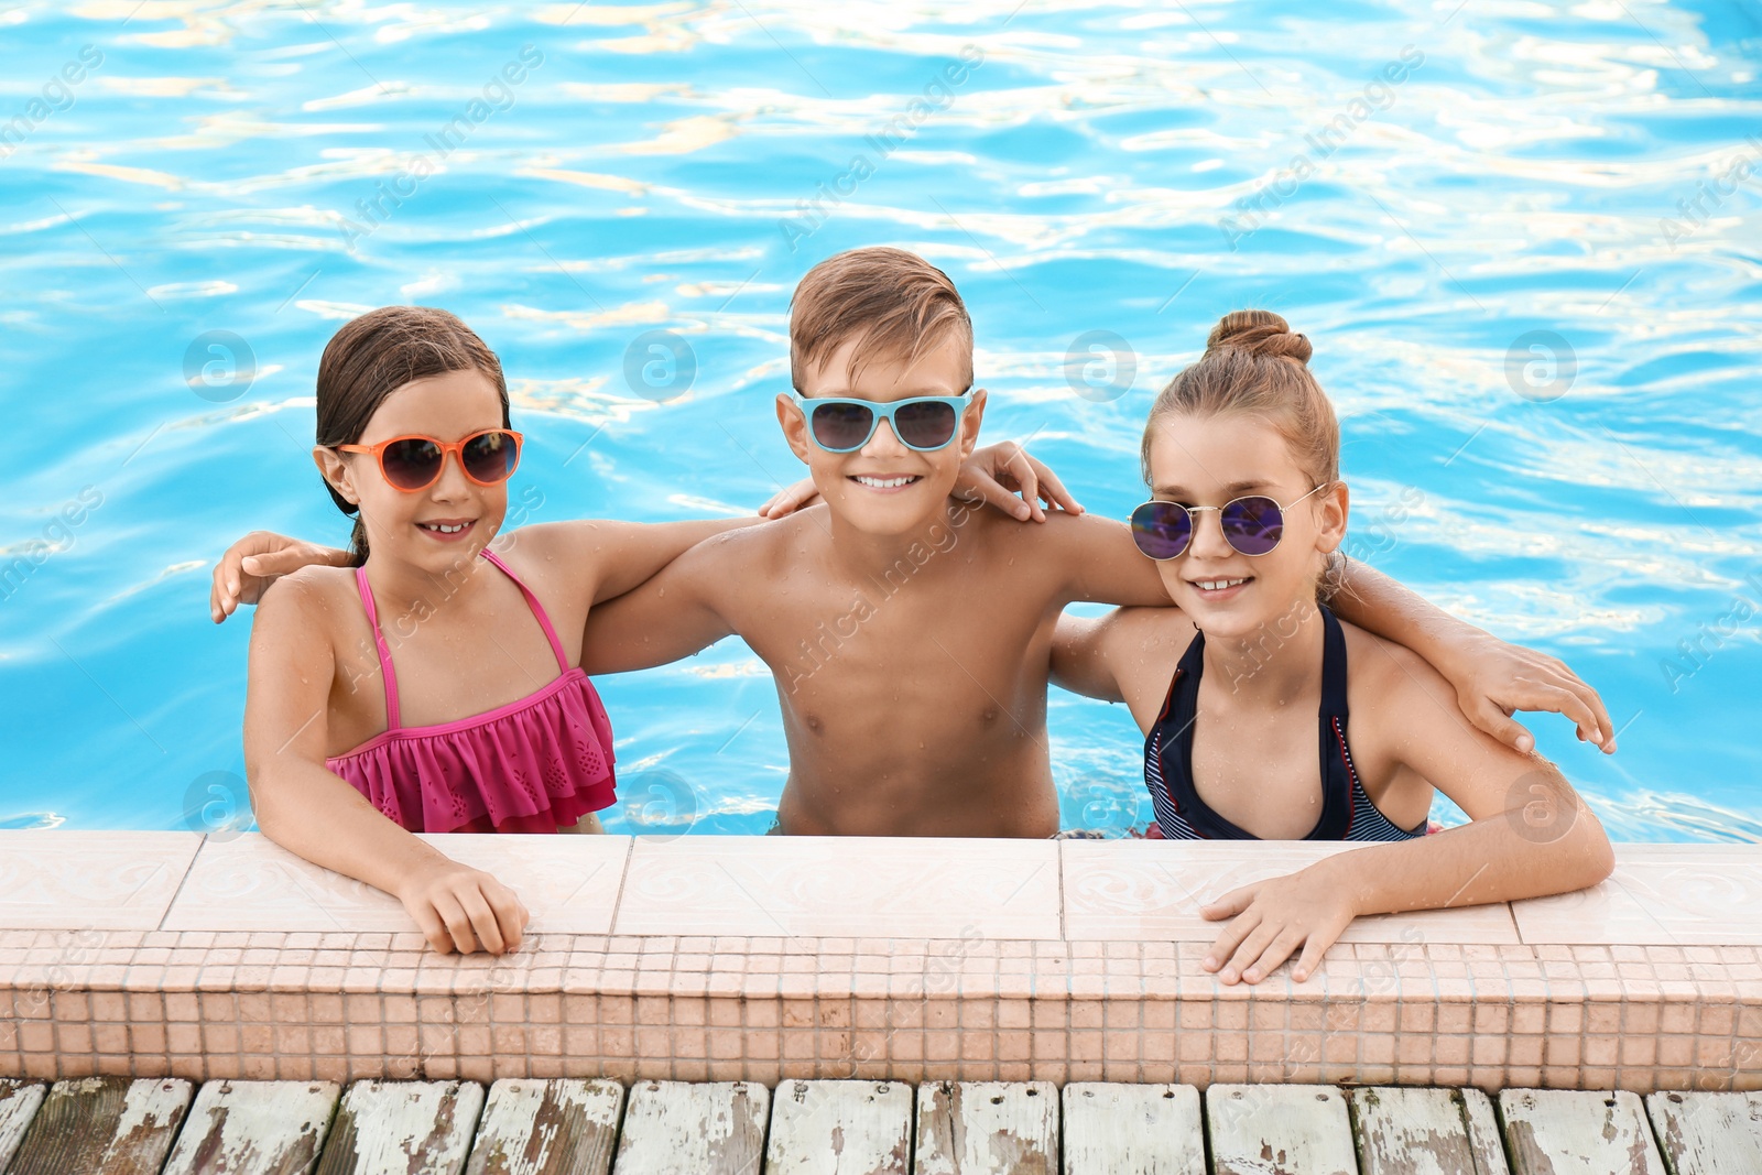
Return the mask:
[[[618,934],[1057,939],[1057,842],[638,837]]]

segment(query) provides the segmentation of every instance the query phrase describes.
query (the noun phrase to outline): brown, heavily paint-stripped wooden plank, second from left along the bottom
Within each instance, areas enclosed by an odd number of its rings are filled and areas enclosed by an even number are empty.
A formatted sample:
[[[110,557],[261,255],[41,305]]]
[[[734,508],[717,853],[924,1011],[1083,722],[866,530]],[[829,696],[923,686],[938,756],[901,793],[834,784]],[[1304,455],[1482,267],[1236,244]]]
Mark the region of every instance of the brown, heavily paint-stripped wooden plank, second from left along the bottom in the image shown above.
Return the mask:
[[[190,1092],[180,1078],[56,1082],[25,1129],[7,1175],[159,1175]]]

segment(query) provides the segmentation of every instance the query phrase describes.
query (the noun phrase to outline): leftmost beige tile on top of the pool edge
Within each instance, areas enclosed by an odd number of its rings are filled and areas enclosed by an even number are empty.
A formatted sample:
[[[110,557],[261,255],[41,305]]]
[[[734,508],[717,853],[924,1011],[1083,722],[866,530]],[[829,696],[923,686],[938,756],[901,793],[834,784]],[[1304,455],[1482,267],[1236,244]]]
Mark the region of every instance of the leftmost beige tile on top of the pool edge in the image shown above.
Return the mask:
[[[0,830],[0,927],[155,930],[203,837]]]

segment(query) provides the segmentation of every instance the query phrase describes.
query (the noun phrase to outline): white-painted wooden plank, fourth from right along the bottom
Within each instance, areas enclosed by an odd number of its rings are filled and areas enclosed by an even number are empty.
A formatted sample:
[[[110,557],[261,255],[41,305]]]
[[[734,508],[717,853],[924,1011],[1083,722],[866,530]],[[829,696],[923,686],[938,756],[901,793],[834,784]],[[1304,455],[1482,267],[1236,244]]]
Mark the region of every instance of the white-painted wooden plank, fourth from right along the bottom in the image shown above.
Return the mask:
[[[1205,1090],[1216,1175],[1359,1175],[1346,1097],[1332,1085]]]

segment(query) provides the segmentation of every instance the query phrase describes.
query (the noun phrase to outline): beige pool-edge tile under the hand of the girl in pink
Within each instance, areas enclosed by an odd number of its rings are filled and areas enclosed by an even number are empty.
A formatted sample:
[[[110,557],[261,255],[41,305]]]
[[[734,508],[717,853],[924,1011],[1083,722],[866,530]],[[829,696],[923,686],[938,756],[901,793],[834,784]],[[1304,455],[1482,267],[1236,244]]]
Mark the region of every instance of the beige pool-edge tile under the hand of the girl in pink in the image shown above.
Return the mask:
[[[425,833],[423,840],[518,893],[532,913],[529,934],[611,930],[629,837]],[[409,928],[409,914],[389,893],[257,833],[208,840],[166,916],[166,930]]]

